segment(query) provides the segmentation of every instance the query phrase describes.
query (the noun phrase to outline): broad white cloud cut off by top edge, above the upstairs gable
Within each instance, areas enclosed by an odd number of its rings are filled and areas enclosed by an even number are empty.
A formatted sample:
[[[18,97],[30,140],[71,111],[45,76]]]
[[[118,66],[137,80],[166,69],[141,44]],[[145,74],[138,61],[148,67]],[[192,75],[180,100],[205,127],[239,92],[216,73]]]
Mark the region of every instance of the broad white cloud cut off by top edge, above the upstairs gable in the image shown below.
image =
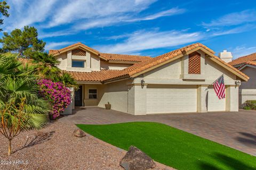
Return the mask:
[[[127,13],[138,13],[149,7],[156,0],[130,1],[130,0],[77,0],[68,1],[58,9],[58,12],[49,22],[49,27],[71,23],[81,19],[101,19],[110,16],[120,16]],[[84,21],[86,22],[86,21]]]

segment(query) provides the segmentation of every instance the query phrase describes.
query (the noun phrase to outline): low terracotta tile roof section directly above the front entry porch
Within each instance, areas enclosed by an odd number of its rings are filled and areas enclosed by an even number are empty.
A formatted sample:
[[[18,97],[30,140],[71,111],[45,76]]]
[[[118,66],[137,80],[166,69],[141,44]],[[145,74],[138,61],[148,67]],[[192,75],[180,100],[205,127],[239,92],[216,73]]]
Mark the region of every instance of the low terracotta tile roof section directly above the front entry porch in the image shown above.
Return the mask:
[[[120,70],[101,70],[92,72],[67,71],[76,81],[104,81],[120,72]]]

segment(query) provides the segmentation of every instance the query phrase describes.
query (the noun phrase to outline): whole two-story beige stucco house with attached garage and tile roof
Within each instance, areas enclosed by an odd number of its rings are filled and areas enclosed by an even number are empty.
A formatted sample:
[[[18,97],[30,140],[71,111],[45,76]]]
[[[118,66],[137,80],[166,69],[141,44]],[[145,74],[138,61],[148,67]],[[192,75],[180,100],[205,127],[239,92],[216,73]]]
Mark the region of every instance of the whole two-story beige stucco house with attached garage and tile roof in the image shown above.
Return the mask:
[[[236,84],[249,79],[200,43],[154,58],[100,53],[81,43],[49,53],[77,80],[76,106],[109,102],[133,115],[238,111]],[[212,86],[205,90],[222,74],[226,99],[218,99]]]

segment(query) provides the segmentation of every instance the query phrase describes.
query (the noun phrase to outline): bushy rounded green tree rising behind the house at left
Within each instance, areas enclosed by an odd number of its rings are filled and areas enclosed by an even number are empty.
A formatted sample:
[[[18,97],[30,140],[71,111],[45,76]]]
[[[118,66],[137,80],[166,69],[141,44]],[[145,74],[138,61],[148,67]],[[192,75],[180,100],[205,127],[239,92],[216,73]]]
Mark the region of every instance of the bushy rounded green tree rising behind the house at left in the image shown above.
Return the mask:
[[[23,31],[14,29],[10,35],[4,32],[0,43],[3,52],[20,53],[21,56],[32,57],[36,52],[43,52],[45,42],[37,38],[35,27],[25,26]]]

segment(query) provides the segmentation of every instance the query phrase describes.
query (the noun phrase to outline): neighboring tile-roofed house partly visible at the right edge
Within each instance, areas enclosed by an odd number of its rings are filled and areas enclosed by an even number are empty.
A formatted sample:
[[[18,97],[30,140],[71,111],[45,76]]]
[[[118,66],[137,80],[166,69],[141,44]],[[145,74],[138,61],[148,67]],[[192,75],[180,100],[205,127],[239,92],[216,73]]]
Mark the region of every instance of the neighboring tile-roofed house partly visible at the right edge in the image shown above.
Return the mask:
[[[229,64],[250,77],[248,82],[241,83],[239,89],[239,107],[242,107],[242,104],[246,100],[256,100],[256,53],[239,57],[229,62]]]

